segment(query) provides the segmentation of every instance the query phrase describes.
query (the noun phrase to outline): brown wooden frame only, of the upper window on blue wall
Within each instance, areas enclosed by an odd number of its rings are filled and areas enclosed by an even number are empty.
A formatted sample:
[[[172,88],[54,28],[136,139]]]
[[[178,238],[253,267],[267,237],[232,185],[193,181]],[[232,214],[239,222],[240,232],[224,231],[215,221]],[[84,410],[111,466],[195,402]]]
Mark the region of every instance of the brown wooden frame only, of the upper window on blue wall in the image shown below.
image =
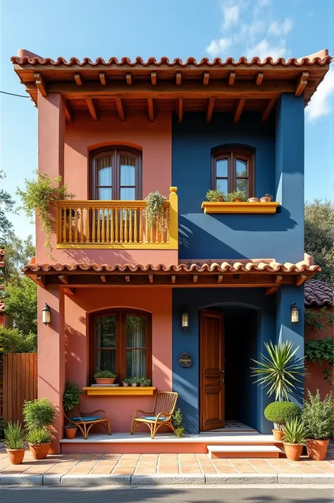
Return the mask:
[[[217,177],[216,163],[221,159],[228,160],[228,175],[227,177]],[[236,159],[247,162],[248,176],[248,197],[254,197],[254,152],[244,149],[219,149],[214,151],[211,156],[211,187],[217,188],[217,179],[228,180],[228,192],[236,190],[236,180],[239,178],[236,174]]]

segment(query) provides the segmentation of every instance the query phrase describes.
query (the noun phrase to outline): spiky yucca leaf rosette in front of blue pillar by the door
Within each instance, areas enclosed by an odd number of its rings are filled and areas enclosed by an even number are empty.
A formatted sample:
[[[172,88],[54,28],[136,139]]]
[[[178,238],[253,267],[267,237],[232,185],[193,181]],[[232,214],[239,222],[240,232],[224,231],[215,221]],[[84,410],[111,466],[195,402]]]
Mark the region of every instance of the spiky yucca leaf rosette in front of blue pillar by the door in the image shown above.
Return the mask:
[[[275,395],[278,402],[289,399],[289,395],[298,396],[302,390],[304,357],[295,356],[299,346],[293,349],[292,342],[265,342],[268,356],[260,354],[263,361],[252,359],[258,367],[251,367],[252,377],[258,377],[255,383],[268,388],[267,395]]]

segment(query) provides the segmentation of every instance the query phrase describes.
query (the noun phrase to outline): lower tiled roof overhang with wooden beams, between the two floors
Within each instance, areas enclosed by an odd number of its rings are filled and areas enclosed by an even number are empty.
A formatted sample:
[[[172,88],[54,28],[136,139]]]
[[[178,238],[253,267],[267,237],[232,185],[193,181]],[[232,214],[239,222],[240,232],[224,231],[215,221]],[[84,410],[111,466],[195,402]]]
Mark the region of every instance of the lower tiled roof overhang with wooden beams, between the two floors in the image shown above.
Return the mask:
[[[152,266],[151,264],[97,263],[29,264],[25,275],[41,287],[59,285],[67,294],[85,287],[263,287],[272,294],[280,285],[300,286],[321,271],[319,266],[276,261],[247,261],[221,263],[180,263]]]

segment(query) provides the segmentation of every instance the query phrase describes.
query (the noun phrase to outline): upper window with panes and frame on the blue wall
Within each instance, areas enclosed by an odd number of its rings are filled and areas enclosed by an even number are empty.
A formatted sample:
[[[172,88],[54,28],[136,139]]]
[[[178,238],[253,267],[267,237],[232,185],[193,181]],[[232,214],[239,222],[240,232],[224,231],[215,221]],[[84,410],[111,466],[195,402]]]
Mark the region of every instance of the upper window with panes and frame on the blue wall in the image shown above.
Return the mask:
[[[247,199],[254,195],[254,154],[247,150],[224,149],[212,156],[212,188],[227,194],[240,190]]]

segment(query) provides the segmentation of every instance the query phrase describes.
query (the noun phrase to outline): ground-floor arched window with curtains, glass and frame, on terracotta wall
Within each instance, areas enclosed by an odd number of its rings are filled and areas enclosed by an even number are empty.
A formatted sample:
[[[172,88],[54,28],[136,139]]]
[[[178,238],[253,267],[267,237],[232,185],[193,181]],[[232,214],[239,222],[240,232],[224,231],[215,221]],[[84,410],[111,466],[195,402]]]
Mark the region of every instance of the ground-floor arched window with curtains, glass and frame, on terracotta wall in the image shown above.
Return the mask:
[[[151,315],[109,309],[90,316],[90,378],[97,370],[112,371],[117,382],[146,375],[151,379]]]

